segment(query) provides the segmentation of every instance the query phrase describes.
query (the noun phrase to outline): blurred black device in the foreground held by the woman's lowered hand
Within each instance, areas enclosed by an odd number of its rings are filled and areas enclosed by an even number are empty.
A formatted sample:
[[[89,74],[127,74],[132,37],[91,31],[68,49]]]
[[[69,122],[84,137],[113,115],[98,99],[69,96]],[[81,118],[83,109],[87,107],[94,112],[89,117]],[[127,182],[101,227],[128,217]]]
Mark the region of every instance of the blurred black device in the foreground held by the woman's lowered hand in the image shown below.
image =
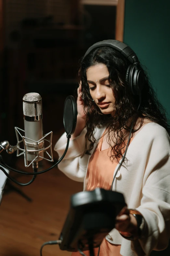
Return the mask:
[[[60,249],[83,251],[99,247],[114,229],[115,218],[124,206],[121,193],[100,188],[71,196],[70,211],[59,237]]]

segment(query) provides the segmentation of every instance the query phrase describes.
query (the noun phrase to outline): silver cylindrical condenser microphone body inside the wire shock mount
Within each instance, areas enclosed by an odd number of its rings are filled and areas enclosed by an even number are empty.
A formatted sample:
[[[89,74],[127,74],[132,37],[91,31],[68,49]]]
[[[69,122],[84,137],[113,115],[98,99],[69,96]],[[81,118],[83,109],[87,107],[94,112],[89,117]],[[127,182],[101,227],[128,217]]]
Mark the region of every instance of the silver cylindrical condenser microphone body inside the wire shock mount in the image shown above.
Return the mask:
[[[33,168],[38,168],[38,162],[44,158],[42,98],[40,94],[28,93],[24,95],[23,117],[27,160],[33,161]]]

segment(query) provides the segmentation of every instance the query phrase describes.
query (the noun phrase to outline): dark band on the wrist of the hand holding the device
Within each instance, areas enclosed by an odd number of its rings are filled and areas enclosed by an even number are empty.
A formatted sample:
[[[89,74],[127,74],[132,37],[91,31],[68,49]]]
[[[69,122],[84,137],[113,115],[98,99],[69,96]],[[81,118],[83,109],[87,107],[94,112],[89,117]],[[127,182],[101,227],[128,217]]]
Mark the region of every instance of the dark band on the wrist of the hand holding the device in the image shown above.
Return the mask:
[[[137,239],[141,238],[141,236],[143,234],[143,231],[146,228],[146,222],[145,222],[145,219],[144,219],[143,215],[140,212],[138,212],[137,210],[129,209],[129,213],[133,214],[136,221],[137,221],[137,236],[134,236],[129,232],[120,232],[120,235],[123,238],[126,238],[127,240],[133,241],[133,240],[137,240]],[[129,236],[126,236],[126,235],[123,235],[123,234],[129,234]]]

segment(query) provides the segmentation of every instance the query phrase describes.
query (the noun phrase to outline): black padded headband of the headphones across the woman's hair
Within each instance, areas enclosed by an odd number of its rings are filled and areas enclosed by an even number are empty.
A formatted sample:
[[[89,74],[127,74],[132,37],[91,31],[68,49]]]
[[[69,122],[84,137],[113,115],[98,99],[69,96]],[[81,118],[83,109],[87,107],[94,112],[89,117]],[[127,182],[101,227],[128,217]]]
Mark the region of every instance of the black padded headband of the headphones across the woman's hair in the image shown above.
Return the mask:
[[[85,53],[84,57],[89,54],[93,49],[108,46],[118,50],[121,54],[123,54],[131,63],[138,62],[138,58],[135,52],[125,43],[122,43],[117,40],[104,40],[98,43],[94,43]]]

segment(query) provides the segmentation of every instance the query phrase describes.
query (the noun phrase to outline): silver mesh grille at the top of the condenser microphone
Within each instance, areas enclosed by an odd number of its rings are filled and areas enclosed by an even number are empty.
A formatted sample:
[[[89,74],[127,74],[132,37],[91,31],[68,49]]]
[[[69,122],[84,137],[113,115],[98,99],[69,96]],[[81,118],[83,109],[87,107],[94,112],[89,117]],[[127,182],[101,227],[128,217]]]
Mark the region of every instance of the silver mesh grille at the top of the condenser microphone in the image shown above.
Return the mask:
[[[28,93],[23,96],[23,114],[38,116],[42,114],[42,97],[38,93]]]

